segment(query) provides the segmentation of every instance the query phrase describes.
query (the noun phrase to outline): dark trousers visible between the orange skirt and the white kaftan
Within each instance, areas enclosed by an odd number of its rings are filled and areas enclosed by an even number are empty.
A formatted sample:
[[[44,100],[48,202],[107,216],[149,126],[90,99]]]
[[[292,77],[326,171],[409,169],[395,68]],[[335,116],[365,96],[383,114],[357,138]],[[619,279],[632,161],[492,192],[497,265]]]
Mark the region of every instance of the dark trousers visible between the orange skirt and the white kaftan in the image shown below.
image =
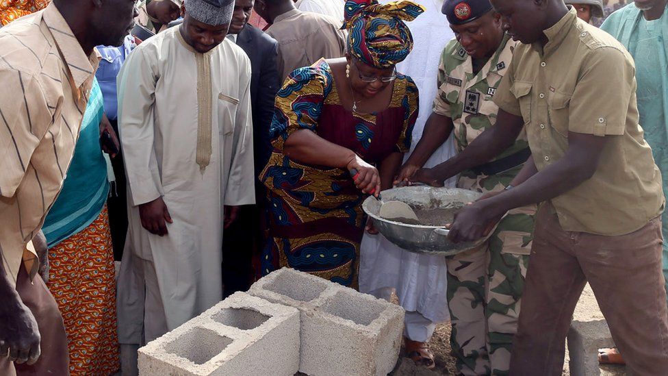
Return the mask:
[[[118,135],[118,121],[110,120],[112,127]],[[127,235],[127,187],[125,180],[125,163],[123,163],[123,148],[118,151],[116,158],[112,159],[116,184],[114,192],[107,199],[107,211],[109,212],[109,227],[112,230],[112,244],[114,245],[114,260],[123,258],[123,247],[125,247],[125,236]]]

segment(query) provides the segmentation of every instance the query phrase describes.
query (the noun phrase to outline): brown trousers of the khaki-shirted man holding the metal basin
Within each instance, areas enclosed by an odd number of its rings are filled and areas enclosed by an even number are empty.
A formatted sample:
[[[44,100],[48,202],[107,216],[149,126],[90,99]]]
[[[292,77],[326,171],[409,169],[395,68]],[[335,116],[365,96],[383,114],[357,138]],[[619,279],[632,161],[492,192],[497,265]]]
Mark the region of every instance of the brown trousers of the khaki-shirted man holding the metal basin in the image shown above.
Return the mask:
[[[561,375],[565,338],[589,281],[634,375],[668,372],[661,221],[624,236],[564,231],[550,205],[536,219],[510,374]]]

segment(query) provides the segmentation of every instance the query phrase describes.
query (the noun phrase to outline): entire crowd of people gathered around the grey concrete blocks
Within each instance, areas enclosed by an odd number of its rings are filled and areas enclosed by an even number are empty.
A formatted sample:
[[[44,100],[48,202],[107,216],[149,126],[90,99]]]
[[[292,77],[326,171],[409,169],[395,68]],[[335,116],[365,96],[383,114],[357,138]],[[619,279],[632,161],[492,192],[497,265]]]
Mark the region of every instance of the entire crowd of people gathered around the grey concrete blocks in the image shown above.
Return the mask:
[[[667,4],[0,1],[0,375],[137,375],[284,267],[398,299],[418,366],[450,321],[460,375],[561,375],[589,283],[600,362],[665,373]],[[489,240],[389,242],[411,184]]]

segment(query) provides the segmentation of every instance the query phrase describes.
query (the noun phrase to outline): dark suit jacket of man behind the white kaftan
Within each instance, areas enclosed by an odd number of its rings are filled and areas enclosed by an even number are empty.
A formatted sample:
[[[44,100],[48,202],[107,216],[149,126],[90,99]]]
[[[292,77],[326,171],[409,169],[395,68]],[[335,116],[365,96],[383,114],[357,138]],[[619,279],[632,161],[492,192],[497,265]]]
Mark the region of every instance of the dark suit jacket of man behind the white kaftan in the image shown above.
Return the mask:
[[[257,27],[246,24],[237,35],[237,45],[251,59],[253,149],[257,177],[271,155],[269,127],[274,117],[274,98],[281,86],[276,63],[279,44]]]

